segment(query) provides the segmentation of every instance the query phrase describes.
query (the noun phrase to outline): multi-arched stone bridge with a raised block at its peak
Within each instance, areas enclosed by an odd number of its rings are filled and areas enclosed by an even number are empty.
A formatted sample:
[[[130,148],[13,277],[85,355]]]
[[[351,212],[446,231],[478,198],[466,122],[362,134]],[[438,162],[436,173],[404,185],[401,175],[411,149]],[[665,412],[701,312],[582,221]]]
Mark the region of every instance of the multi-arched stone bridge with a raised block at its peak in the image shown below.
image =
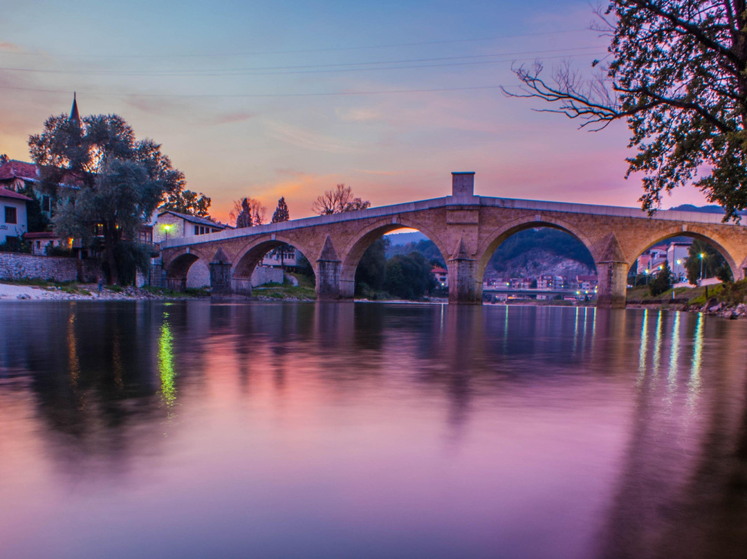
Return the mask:
[[[735,279],[743,278],[747,267],[747,228],[721,223],[719,214],[659,211],[648,217],[633,208],[477,197],[474,173],[453,173],[449,197],[174,238],[164,241],[161,254],[171,280],[183,280],[201,260],[210,266],[215,292],[249,294],[249,278],[262,256],[292,244],[314,268],[317,297],[350,299],[365,250],[381,235],[409,227],[427,235],[446,259],[449,301],[480,303],[485,269],[498,245],[522,229],[541,226],[562,229],[589,249],[599,277],[598,306],[624,306],[630,266],[666,238],[689,235],[710,242]]]

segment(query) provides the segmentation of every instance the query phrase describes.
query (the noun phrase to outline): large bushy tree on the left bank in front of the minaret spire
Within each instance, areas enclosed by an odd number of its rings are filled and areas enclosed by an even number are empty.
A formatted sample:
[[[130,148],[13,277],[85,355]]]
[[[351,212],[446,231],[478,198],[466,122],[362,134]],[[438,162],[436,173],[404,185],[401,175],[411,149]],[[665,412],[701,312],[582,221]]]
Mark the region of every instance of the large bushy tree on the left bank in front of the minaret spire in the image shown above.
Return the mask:
[[[40,166],[42,188],[55,194],[59,185],[74,187],[67,189],[65,200],[58,200],[55,232],[90,244],[99,229],[109,281],[118,283],[120,273],[134,276],[131,264],[147,259],[125,262],[118,255],[133,250],[144,255],[145,248],[134,243],[140,225],[164,196],[185,185],[184,175],[172,167],[161,146],[137,140],[116,114],[82,120],[64,114],[49,117],[44,131],[31,135],[28,145]],[[123,244],[128,244],[127,250]]]

